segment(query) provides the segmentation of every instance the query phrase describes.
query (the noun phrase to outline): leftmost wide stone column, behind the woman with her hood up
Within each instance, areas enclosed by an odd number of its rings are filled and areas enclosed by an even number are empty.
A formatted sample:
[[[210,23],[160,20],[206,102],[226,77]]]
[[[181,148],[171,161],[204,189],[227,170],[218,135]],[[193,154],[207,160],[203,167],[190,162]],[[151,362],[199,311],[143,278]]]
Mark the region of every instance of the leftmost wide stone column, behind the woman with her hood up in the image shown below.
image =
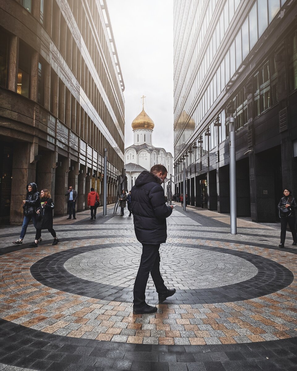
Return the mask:
[[[15,142],[13,146],[10,224],[22,224],[24,219],[23,200],[26,198],[26,185],[35,182],[36,161],[32,160],[32,144]]]

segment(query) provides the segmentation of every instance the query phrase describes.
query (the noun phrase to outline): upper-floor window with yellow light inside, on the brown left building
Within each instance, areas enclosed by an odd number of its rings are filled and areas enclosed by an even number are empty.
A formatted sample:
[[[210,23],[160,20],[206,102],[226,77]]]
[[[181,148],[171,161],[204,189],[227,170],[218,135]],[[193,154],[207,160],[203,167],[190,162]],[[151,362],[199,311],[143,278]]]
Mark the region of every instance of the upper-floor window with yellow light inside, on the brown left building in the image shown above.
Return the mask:
[[[20,41],[19,68],[17,70],[17,93],[30,98],[31,53],[27,45]]]

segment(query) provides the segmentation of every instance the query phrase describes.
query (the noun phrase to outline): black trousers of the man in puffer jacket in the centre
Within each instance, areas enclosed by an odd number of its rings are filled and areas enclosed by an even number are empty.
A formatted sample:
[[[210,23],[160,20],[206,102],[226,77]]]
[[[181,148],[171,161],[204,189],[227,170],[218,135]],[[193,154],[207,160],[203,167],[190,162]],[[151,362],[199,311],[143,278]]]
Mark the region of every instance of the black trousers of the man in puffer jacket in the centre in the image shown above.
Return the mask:
[[[145,305],[145,289],[149,273],[151,273],[157,293],[164,294],[167,292],[160,273],[159,248],[160,244],[142,244],[142,254],[133,289],[133,308],[142,308]]]

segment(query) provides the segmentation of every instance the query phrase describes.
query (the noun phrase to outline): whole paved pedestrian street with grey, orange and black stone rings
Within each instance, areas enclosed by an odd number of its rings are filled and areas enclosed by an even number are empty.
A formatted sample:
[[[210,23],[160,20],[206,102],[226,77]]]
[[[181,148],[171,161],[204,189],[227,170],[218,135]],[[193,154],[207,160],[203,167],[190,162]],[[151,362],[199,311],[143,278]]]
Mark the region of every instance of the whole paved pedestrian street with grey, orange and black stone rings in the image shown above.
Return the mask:
[[[141,256],[133,218],[98,209],[55,218],[59,244],[42,231],[30,247],[1,227],[0,370],[297,369],[297,249],[280,226],[176,207],[161,245],[161,273],[176,294],[158,312],[133,315]]]

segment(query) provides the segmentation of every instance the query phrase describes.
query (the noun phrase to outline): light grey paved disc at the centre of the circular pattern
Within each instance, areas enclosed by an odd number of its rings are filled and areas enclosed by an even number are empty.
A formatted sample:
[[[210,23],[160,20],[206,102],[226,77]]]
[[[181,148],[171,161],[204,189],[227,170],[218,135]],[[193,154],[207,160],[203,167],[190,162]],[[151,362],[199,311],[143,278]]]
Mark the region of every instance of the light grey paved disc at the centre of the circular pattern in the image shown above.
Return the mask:
[[[64,264],[74,276],[103,285],[133,289],[141,256],[139,246],[116,246],[76,255]],[[179,246],[160,248],[160,271],[167,287],[216,288],[254,277],[258,270],[239,256]],[[151,277],[148,289],[154,286]]]

